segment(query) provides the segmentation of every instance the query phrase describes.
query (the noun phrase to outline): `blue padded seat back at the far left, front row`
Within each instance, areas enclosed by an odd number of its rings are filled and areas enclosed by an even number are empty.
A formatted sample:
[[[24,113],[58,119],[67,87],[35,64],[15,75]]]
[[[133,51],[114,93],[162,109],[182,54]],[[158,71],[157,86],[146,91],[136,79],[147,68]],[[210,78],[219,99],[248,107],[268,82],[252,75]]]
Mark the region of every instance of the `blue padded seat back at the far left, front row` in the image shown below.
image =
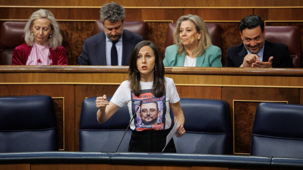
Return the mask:
[[[0,97],[0,152],[57,150],[57,123],[50,96]]]

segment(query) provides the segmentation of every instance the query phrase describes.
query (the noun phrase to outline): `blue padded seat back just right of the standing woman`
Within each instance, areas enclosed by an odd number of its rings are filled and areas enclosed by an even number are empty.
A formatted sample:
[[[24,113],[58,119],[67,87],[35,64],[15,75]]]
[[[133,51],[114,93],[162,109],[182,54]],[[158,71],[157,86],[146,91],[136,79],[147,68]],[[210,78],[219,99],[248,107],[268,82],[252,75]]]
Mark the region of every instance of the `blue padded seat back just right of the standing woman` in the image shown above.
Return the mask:
[[[177,153],[228,154],[229,111],[222,100],[181,98],[186,133],[174,137]],[[171,117],[173,120],[173,113]]]

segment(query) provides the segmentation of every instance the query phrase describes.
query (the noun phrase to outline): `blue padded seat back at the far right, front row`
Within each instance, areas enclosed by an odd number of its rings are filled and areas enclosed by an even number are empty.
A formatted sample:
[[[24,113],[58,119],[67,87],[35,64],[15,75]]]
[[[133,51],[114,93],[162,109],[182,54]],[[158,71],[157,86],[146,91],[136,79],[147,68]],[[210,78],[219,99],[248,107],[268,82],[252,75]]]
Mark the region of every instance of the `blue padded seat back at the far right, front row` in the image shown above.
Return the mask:
[[[303,106],[260,103],[252,130],[251,155],[303,158]]]

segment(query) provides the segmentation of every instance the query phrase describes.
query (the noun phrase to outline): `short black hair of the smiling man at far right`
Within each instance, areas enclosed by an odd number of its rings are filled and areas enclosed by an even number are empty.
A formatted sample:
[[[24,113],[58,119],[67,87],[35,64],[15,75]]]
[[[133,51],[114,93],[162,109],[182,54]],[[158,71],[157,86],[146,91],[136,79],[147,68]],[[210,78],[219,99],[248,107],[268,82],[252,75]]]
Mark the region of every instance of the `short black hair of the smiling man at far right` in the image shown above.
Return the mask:
[[[241,20],[239,23],[239,28],[242,33],[242,31],[246,28],[248,29],[254,29],[260,26],[261,31],[263,33],[264,31],[264,21],[260,17],[260,15],[249,15]]]

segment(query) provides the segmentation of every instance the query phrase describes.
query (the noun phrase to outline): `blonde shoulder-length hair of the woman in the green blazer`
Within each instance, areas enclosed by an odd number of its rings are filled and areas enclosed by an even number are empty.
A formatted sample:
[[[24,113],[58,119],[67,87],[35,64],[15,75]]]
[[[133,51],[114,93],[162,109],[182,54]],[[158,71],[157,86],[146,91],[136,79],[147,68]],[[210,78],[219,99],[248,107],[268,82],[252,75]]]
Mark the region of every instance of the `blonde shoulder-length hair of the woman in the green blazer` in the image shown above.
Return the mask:
[[[178,54],[181,55],[183,52],[187,54],[184,45],[180,40],[180,25],[182,21],[191,21],[195,24],[196,31],[202,31],[200,40],[198,40],[198,46],[193,51],[194,56],[200,56],[203,52],[211,45],[211,38],[208,33],[205,22],[198,15],[183,15],[177,21],[177,26],[174,31],[174,43],[178,46]]]

